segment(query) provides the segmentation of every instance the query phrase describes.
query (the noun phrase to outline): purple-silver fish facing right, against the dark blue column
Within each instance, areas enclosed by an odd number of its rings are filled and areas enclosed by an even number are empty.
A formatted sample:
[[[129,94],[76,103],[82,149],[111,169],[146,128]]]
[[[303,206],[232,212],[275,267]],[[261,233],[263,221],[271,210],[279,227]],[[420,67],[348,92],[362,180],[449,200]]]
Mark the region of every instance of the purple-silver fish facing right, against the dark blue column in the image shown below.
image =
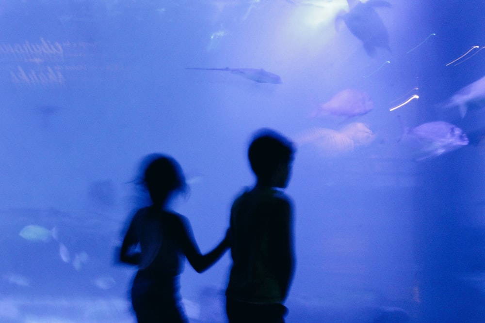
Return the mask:
[[[437,157],[469,144],[462,129],[445,121],[423,123],[415,128],[404,128],[404,137],[414,138],[420,145],[416,160]]]

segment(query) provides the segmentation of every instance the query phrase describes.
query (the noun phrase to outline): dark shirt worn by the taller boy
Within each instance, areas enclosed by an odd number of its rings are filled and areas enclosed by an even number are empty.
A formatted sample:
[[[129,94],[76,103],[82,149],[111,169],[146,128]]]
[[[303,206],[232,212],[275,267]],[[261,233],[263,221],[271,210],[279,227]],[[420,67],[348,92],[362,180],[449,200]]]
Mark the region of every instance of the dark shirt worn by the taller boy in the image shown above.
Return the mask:
[[[227,297],[249,303],[283,303],[294,267],[292,207],[288,196],[256,187],[231,208],[233,266]]]

